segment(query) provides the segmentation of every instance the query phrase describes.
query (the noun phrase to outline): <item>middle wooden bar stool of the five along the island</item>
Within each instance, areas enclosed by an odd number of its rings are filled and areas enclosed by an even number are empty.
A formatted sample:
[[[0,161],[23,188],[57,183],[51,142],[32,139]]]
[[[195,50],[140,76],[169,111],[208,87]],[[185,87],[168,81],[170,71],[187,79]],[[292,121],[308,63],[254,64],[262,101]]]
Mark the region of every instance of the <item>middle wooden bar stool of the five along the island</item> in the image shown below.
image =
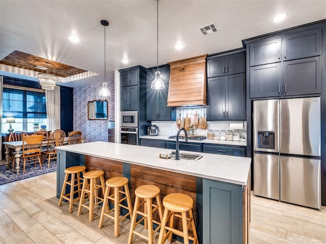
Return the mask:
[[[130,200],[129,188],[128,188],[128,178],[126,177],[113,177],[111,179],[106,180],[105,185],[105,194],[104,201],[102,205],[100,222],[98,224],[98,228],[103,226],[104,216],[111,218],[114,220],[114,236],[119,236],[119,223],[124,218],[132,216],[132,204]],[[124,188],[124,191],[119,190],[120,187]],[[110,195],[110,188],[114,188],[114,193]],[[120,199],[120,193],[124,195]],[[114,201],[114,207],[110,209],[110,205],[108,206],[109,200]],[[122,201],[127,200],[127,206],[121,204]],[[123,207],[128,210],[128,213],[120,218],[120,207]],[[114,211],[114,216],[109,215],[110,212]]]

